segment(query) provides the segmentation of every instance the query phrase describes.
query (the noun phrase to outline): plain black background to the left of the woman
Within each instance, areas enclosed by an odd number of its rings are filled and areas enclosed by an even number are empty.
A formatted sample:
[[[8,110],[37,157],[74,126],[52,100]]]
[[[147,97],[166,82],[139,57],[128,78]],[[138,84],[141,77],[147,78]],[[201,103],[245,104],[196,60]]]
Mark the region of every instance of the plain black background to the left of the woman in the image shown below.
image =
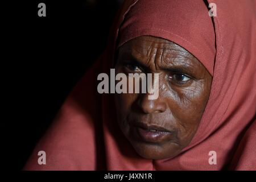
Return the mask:
[[[41,2],[46,17],[38,16]],[[22,169],[65,97],[100,56],[119,5],[115,0],[42,0],[4,7],[10,18],[4,35],[11,51],[2,67],[10,78],[5,106],[10,113],[4,122],[10,125],[5,134],[11,139],[5,150],[10,168]]]

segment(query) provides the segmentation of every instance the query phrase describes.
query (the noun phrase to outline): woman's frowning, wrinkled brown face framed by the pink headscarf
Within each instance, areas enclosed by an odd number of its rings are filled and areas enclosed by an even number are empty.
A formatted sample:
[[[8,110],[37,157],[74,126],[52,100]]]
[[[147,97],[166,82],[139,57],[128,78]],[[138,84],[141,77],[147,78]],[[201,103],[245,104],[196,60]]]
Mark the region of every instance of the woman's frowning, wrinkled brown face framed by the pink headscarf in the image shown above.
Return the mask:
[[[148,93],[115,94],[118,125],[143,158],[179,154],[195,135],[209,98],[212,76],[204,65],[169,40],[140,36],[119,48],[115,72],[159,73],[155,100]]]

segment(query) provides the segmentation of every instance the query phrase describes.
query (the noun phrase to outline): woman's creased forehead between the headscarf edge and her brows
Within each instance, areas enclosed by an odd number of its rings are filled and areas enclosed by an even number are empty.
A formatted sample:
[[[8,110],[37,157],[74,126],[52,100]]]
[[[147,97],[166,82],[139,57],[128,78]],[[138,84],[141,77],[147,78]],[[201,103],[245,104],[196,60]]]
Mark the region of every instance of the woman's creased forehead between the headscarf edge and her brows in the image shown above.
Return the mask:
[[[143,61],[158,60],[160,64],[200,64],[190,52],[183,47],[163,38],[140,36],[123,44],[119,48],[119,57],[132,57]]]

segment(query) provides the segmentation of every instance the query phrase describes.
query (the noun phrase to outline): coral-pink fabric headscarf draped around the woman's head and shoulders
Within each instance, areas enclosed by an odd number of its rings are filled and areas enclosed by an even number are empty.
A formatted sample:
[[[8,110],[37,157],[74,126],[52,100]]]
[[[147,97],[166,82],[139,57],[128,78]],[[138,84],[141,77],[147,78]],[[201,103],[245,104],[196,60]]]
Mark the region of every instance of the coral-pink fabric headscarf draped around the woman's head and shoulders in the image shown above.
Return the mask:
[[[203,0],[125,1],[104,54],[69,94],[24,169],[255,170],[255,1],[214,3],[212,22]],[[97,75],[109,73],[116,48],[141,35],[179,44],[213,76],[195,137],[171,159],[139,156],[117,125],[113,95],[97,93]],[[38,164],[42,150],[46,165]],[[217,164],[209,164],[209,151],[216,151]]]

